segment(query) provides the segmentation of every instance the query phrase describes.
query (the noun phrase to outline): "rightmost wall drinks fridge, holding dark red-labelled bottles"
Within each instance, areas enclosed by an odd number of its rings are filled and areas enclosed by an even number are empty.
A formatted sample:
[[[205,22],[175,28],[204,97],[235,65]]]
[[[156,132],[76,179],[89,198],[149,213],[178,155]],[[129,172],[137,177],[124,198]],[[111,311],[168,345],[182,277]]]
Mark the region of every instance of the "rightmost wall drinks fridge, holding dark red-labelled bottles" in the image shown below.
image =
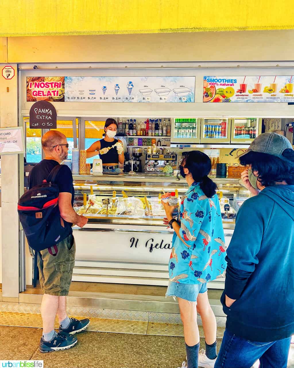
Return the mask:
[[[244,117],[232,119],[231,143],[251,143],[261,134],[262,119]]]

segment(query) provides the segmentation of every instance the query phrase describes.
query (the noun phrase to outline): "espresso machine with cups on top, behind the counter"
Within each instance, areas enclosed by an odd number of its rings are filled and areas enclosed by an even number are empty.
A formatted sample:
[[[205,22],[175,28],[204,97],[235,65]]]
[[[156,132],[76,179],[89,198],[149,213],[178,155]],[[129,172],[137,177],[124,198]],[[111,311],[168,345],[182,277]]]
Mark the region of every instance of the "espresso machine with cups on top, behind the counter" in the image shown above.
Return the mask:
[[[178,169],[178,155],[176,153],[153,154],[146,153],[145,173],[161,173],[172,175]]]

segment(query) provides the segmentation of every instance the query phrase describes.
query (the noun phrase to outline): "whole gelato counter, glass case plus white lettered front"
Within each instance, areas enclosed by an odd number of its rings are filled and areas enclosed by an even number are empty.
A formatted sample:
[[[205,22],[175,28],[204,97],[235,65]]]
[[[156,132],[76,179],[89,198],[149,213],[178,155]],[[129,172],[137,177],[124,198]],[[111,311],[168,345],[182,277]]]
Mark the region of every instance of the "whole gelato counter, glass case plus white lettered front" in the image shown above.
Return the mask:
[[[85,227],[73,227],[76,262],[73,281],[168,284],[168,261],[173,232],[166,229],[161,205],[164,192],[187,190],[175,176],[137,174],[73,176],[74,208],[89,218]],[[215,179],[221,202],[226,245],[235,217],[248,191],[236,179]],[[222,289],[224,279],[209,283]]]

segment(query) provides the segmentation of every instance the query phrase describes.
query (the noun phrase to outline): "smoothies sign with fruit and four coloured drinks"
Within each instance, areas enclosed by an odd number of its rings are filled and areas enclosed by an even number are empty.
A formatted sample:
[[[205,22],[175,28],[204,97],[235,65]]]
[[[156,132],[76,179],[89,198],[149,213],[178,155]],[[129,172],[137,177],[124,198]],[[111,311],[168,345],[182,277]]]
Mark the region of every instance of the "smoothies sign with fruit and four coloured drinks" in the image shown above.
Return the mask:
[[[294,76],[204,76],[203,102],[294,102]]]

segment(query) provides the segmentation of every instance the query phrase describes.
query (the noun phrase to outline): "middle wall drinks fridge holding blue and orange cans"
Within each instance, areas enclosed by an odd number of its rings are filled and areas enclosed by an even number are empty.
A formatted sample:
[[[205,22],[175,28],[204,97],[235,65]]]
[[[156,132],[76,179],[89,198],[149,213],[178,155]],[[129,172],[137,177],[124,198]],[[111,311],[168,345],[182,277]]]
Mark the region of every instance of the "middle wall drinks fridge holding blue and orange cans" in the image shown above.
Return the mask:
[[[201,143],[230,143],[231,119],[202,118]]]

